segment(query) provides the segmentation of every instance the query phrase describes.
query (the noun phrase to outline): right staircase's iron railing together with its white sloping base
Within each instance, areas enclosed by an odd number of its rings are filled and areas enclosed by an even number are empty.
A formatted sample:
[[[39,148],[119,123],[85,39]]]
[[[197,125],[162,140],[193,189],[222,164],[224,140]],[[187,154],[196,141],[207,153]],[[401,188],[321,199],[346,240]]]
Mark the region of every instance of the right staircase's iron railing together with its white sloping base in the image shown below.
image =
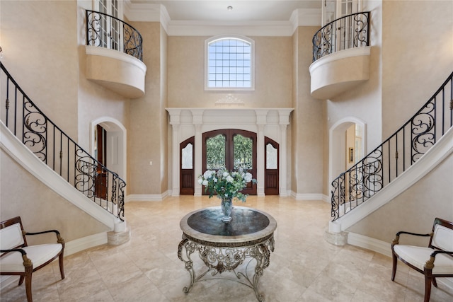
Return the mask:
[[[329,232],[345,231],[453,152],[452,78],[453,73],[408,122],[333,180]]]

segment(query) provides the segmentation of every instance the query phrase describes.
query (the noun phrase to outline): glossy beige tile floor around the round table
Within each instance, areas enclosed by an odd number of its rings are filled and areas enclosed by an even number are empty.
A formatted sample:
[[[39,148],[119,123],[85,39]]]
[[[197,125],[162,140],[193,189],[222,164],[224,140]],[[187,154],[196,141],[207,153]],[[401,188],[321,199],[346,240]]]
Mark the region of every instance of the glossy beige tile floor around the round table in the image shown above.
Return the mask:
[[[229,280],[202,281],[183,294],[189,274],[177,256],[179,221],[190,211],[218,204],[219,199],[207,197],[128,202],[131,240],[65,257],[64,280],[57,262],[35,272],[34,301],[257,301],[252,289]],[[248,197],[238,205],[266,211],[278,223],[275,251],[259,281],[265,301],[423,301],[421,274],[400,263],[392,282],[389,257],[323,240],[329,204]],[[0,301],[26,301],[24,285],[1,289]],[[440,284],[432,289],[430,301],[453,301],[453,291]]]

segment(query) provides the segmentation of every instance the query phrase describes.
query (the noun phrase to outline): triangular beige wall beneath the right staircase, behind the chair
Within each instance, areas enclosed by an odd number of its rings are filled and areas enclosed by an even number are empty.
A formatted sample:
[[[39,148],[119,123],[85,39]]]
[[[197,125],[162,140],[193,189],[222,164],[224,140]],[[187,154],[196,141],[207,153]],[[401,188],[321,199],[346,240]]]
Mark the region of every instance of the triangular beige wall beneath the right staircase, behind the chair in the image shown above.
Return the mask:
[[[449,156],[427,176],[348,231],[391,243],[398,231],[429,233],[435,217],[453,221],[452,171],[453,156]],[[405,242],[426,244],[426,240],[415,238]]]

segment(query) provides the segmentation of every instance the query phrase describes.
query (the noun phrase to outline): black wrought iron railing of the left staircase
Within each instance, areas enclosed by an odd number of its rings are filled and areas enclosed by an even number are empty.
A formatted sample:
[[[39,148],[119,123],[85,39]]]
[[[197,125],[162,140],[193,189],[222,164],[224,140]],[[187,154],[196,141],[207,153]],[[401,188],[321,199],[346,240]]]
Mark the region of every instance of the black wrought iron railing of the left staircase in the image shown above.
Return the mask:
[[[0,62],[1,121],[41,161],[124,221],[126,183],[65,134],[28,98]]]

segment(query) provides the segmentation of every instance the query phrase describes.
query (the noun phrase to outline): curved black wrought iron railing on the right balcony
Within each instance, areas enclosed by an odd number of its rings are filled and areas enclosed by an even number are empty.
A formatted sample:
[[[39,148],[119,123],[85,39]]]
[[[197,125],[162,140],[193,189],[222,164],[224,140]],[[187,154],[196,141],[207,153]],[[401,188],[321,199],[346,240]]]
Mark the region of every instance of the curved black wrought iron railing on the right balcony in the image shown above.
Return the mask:
[[[369,46],[369,11],[326,24],[313,36],[313,62],[340,50]]]

